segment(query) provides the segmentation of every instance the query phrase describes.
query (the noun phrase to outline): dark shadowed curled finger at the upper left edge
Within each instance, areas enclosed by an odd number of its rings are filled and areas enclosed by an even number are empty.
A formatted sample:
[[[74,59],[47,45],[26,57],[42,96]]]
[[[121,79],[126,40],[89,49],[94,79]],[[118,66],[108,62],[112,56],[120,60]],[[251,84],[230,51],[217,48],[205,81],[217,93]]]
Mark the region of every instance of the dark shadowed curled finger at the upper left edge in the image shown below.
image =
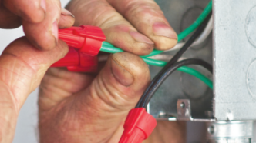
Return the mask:
[[[22,25],[19,16],[10,12],[0,1],[0,28],[17,28]]]

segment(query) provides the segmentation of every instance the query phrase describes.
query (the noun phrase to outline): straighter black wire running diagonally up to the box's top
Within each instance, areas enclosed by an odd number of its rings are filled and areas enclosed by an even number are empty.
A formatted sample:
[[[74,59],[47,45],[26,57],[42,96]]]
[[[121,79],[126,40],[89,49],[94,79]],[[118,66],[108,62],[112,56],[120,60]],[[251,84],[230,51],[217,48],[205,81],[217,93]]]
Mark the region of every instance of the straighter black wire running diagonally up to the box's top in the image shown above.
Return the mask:
[[[148,92],[150,92],[150,88],[153,86],[153,84],[155,82],[157,82],[159,80],[159,78],[161,77],[161,75],[163,75],[163,73],[166,71],[166,69],[168,67],[170,67],[171,65],[173,65],[175,62],[178,61],[178,59],[184,54],[184,52],[187,51],[187,49],[190,47],[190,45],[193,44],[193,42],[197,39],[197,37],[199,37],[199,35],[204,32],[204,28],[207,26],[207,22],[210,20],[211,18],[211,13],[210,12],[207,15],[207,18],[204,19],[204,22],[201,23],[201,25],[197,28],[197,30],[194,32],[194,34],[188,39],[188,41],[185,43],[185,45],[180,48],[180,50],[177,52],[176,55],[173,56],[172,59],[170,59],[170,62],[167,63],[167,65],[165,65],[162,70],[153,78],[153,80],[150,82],[150,85],[147,87],[147,89],[143,92],[143,95],[141,96],[140,100],[137,102],[136,107],[135,108],[140,108],[143,105],[143,102],[145,101],[145,98],[147,98],[147,94]]]

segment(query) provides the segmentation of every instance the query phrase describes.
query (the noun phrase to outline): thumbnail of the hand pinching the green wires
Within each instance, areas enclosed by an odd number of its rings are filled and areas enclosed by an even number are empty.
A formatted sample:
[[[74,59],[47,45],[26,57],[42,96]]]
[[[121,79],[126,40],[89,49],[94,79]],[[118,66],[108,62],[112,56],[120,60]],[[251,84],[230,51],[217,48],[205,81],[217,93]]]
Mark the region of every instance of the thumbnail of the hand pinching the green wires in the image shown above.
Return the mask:
[[[111,60],[111,70],[116,81],[120,82],[121,85],[130,86],[133,84],[133,75],[129,71],[126,71],[113,58]]]

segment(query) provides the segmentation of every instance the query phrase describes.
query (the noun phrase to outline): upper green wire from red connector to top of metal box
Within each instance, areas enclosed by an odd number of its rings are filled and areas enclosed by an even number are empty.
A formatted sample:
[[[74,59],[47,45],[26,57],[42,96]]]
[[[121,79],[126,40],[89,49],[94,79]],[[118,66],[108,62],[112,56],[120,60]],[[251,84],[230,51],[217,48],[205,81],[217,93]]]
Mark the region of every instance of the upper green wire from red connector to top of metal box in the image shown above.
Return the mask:
[[[180,42],[180,40],[187,37],[187,35],[190,35],[191,32],[194,32],[194,30],[204,21],[204,19],[207,17],[207,15],[211,12],[211,9],[212,9],[212,0],[208,3],[207,7],[204,8],[204,11],[199,15],[197,20],[192,25],[190,25],[188,28],[186,28],[183,32],[180,32],[180,34],[178,35],[178,42]],[[116,49],[116,47],[114,47],[113,45],[111,45],[108,42],[103,42],[103,46],[100,49],[100,51],[116,53],[116,52],[119,52],[118,49]],[[123,52],[123,50],[120,50],[120,52]],[[163,51],[161,51],[161,50],[153,50],[153,52],[151,52],[149,55],[143,55],[141,57],[150,57],[153,55],[158,55],[162,52]]]

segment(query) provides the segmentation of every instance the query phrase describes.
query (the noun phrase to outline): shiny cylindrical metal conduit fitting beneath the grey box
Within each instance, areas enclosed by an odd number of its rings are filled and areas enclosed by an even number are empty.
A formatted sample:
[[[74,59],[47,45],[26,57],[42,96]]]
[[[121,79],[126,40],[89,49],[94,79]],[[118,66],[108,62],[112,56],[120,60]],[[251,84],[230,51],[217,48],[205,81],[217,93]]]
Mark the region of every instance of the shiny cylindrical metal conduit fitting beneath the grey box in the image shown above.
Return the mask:
[[[208,143],[251,143],[253,121],[217,121],[206,126]]]

